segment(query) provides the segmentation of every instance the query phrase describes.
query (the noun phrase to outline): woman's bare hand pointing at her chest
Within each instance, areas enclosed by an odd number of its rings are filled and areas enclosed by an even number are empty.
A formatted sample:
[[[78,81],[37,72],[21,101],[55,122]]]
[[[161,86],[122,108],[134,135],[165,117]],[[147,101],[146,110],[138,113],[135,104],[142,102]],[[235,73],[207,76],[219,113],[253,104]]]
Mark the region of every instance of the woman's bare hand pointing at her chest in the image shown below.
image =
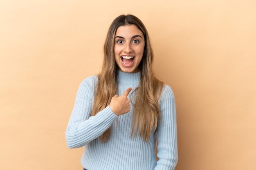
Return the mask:
[[[121,96],[112,97],[109,107],[117,116],[124,115],[130,111],[130,100],[127,98],[132,88],[128,88]]]

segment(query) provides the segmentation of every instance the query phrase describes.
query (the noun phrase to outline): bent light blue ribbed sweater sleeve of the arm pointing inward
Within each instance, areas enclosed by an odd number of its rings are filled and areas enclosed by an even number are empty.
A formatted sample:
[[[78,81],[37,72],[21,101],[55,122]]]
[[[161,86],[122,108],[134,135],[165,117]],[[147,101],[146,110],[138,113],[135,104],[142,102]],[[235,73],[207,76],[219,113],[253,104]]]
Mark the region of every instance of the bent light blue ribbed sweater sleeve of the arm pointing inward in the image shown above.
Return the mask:
[[[95,77],[94,77],[95,78]],[[97,84],[88,77],[80,84],[76,100],[66,130],[66,142],[69,148],[80,148],[99,137],[118,118],[107,106],[91,116],[93,91]]]

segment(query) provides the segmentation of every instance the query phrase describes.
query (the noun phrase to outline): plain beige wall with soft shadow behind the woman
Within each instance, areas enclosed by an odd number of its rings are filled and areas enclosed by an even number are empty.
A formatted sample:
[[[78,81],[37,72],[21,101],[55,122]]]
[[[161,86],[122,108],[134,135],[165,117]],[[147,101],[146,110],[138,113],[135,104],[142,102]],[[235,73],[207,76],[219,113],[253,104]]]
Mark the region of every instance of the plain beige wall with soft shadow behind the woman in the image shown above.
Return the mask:
[[[255,0],[1,0],[0,169],[82,170],[65,128],[120,14],[146,25],[177,104],[176,170],[256,170]]]

